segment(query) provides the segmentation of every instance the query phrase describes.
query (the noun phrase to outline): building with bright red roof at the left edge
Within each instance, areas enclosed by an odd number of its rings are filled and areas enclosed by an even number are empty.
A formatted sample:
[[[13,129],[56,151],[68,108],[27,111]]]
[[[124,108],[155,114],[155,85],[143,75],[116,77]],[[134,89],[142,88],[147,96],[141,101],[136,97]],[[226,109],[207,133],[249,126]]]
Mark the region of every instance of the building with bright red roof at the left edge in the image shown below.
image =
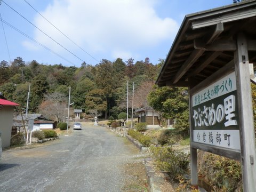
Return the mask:
[[[13,109],[15,106],[19,106],[19,104],[6,100],[0,95],[0,132],[3,148],[9,147],[11,143]]]

